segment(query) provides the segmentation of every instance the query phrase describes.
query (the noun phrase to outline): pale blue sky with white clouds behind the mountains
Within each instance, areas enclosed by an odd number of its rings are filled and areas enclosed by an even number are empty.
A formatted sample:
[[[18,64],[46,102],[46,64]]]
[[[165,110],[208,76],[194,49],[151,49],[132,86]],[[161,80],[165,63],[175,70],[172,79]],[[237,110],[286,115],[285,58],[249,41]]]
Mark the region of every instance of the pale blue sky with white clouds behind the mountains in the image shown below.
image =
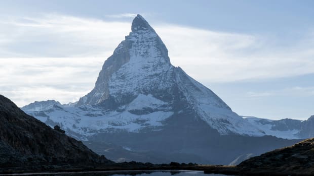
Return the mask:
[[[314,114],[314,1],[0,1],[0,94],[77,101],[136,14],[239,115]]]

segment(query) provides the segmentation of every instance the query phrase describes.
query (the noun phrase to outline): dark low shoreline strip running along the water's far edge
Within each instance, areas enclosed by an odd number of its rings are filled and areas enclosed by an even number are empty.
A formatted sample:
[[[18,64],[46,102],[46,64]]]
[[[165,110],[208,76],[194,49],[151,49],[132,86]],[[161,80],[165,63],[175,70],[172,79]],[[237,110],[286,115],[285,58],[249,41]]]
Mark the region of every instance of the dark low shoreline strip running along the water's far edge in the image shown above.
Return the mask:
[[[28,167],[11,167],[1,168],[0,176],[12,176],[12,175],[53,175],[53,174],[90,174],[90,173],[107,173],[107,175],[113,175],[121,172],[138,172],[148,173],[156,171],[204,171],[205,174],[225,174],[225,175],[313,175],[309,172],[287,172],[280,170],[269,169],[250,169],[245,170],[237,166],[226,165],[171,165],[171,164],[153,164],[150,166],[129,165],[130,163],[113,164],[113,165],[94,165],[94,166],[68,166],[64,167],[60,165],[49,166],[28,166]],[[143,163],[141,163],[143,164]],[[144,164],[145,165],[145,164]],[[41,167],[41,168],[40,168]],[[43,168],[46,167],[46,168]]]

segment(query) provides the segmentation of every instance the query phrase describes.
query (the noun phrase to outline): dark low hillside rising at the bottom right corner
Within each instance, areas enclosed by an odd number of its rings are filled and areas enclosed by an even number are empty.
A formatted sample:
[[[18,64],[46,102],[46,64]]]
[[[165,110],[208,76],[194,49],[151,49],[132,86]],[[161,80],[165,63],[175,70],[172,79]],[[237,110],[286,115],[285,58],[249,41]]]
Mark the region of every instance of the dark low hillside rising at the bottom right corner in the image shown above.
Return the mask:
[[[240,163],[244,175],[313,175],[314,139],[267,152]]]

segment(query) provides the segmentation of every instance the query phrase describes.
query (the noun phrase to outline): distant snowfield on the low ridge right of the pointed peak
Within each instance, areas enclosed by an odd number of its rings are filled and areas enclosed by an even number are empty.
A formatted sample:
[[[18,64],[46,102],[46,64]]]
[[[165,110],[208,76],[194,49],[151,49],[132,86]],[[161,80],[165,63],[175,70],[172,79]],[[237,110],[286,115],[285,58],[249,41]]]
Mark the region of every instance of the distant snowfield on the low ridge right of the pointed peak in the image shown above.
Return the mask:
[[[298,133],[301,129],[301,121],[292,119],[282,119],[279,121],[246,117],[245,120],[253,127],[261,129],[266,135],[276,136],[284,139],[301,139]]]

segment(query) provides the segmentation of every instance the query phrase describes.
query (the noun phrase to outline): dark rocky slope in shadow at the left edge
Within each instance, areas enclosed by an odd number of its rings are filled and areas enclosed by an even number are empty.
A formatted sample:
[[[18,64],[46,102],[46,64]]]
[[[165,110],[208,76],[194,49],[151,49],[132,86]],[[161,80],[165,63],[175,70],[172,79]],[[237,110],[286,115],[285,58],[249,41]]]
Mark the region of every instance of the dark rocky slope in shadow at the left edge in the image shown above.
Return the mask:
[[[27,115],[2,95],[0,122],[0,167],[111,162]]]

